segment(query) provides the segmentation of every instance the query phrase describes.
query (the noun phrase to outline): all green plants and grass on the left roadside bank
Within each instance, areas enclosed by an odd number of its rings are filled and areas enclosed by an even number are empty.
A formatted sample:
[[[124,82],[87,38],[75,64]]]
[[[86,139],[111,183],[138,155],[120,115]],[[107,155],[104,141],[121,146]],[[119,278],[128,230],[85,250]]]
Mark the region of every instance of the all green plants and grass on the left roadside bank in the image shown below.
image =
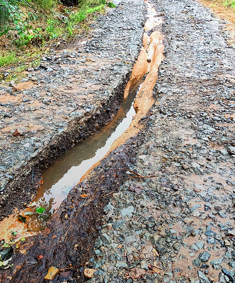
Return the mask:
[[[106,0],[76,0],[73,6],[59,0],[0,0],[0,81],[8,71],[7,80],[19,80],[25,69],[40,64],[42,52],[86,34],[106,7],[116,6]]]

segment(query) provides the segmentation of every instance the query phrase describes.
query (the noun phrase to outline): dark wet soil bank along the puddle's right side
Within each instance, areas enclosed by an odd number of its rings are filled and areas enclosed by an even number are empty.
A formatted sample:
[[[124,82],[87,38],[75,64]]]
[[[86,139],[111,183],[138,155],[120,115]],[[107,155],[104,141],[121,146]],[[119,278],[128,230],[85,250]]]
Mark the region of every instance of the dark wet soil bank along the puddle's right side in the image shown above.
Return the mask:
[[[135,145],[142,143],[139,135]],[[103,208],[125,179],[125,169],[135,159],[135,149],[118,147],[110,153],[109,161],[104,159],[93,169],[89,179],[83,180],[72,189],[57,213],[47,223],[41,234],[22,242],[13,255],[13,270],[1,271],[1,282],[46,282],[44,276],[51,266],[58,269],[85,264],[92,255],[92,247],[102,225]],[[106,169],[108,168],[108,170]],[[86,197],[82,197],[86,194]],[[108,194],[108,195],[107,195]],[[43,256],[39,259],[39,255]],[[33,260],[33,263],[32,263]],[[25,273],[27,272],[27,275]],[[72,271],[76,282],[84,282],[79,268]],[[60,274],[55,282],[60,282]]]

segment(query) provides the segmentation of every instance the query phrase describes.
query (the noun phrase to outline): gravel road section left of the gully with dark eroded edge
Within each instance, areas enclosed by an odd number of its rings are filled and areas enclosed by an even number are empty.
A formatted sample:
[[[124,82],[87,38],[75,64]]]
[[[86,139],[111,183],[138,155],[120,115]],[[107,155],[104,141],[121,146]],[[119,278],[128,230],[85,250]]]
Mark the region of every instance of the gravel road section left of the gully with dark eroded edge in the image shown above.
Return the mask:
[[[118,112],[144,13],[142,1],[120,3],[91,24],[91,37],[75,44],[83,47],[50,50],[22,82],[0,86],[1,217],[27,207],[41,168]]]

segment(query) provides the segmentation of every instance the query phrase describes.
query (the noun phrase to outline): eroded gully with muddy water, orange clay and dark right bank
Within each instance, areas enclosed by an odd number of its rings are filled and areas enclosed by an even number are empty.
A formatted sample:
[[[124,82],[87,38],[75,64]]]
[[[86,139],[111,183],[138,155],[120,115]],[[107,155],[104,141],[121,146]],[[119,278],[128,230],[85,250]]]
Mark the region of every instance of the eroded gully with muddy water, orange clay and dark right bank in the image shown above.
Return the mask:
[[[11,241],[13,247],[18,248],[12,255],[13,268],[1,271],[1,282],[9,279],[12,282],[41,282],[51,266],[65,269],[84,264],[92,256],[97,228],[102,225],[102,208],[124,180],[121,167],[134,160],[134,151],[124,146],[121,156],[111,156],[144,126],[142,120],[154,103],[152,91],[164,57],[163,36],[158,30],[162,20],[157,17],[153,5],[145,3],[148,13],[143,47],[133,66],[118,114],[111,123],[56,158],[44,170],[37,196],[20,212],[26,223],[19,220],[18,214],[1,221],[0,238]],[[103,158],[109,153],[112,154],[107,164],[112,159],[115,166],[104,165],[106,159]],[[104,178],[107,171],[108,179]],[[41,214],[36,213],[39,207],[44,210]],[[27,275],[25,269],[29,271]],[[71,272],[77,282],[85,280],[79,268]]]

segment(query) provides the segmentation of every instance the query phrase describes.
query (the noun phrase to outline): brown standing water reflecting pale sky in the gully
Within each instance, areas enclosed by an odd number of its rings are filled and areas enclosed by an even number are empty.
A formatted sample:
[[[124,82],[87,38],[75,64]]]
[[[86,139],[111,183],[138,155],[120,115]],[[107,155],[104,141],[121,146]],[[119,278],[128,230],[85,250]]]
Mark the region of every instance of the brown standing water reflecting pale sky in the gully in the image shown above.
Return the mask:
[[[128,97],[124,99],[122,107],[110,124],[56,158],[53,164],[44,170],[43,184],[29,206],[32,211],[37,207],[43,207],[44,214],[47,215],[27,216],[28,229],[42,231],[47,219],[59,208],[69,191],[76,186],[88,169],[106,155],[112,143],[128,129],[136,114],[133,103],[142,83],[143,80],[138,80],[130,88]]]

